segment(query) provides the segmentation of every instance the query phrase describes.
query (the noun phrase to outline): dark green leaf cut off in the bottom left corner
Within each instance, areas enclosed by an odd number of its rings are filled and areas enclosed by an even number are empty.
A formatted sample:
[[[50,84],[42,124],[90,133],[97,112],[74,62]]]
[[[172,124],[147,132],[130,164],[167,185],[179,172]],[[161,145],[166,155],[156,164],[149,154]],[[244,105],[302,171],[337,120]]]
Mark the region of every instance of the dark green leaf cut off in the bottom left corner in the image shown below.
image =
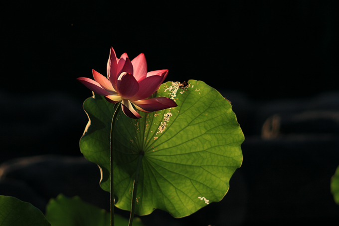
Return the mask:
[[[0,226],[50,226],[39,209],[11,196],[0,196]]]

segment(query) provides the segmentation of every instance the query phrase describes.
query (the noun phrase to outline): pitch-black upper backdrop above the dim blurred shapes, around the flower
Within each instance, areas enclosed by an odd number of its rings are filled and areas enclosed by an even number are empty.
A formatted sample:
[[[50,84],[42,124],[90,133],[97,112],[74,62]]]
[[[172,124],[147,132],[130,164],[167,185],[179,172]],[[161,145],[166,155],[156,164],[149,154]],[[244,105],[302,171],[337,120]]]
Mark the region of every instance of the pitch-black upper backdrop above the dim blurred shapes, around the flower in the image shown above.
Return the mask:
[[[1,90],[63,90],[106,73],[109,48],[144,52],[169,81],[203,80],[251,98],[337,89],[338,1],[12,1],[2,20]],[[15,79],[14,79],[15,78]]]

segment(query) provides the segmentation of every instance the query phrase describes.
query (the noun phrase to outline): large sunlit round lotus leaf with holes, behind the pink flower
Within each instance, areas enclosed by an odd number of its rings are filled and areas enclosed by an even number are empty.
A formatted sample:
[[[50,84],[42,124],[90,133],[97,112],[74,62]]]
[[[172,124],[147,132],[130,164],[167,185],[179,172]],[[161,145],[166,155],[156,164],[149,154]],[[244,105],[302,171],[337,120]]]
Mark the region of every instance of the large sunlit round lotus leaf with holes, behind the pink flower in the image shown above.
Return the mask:
[[[131,210],[139,155],[144,153],[136,214],[156,208],[180,218],[220,201],[241,166],[244,135],[231,104],[202,81],[167,82],[153,95],[178,105],[139,112],[141,119],[119,113],[114,128],[115,205]],[[80,140],[84,156],[99,165],[101,187],[110,191],[110,126],[113,104],[100,95],[84,102],[89,123]]]

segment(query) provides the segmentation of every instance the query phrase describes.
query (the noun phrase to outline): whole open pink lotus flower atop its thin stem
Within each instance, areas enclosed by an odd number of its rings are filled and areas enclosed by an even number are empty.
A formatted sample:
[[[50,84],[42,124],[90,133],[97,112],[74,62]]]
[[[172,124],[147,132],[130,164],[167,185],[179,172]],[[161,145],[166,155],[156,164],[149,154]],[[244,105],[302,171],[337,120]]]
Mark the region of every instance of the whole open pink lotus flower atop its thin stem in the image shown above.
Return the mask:
[[[107,63],[108,79],[95,70],[92,71],[94,80],[85,77],[77,80],[93,92],[105,96],[111,103],[121,101],[123,112],[130,118],[141,118],[134,107],[144,112],[152,112],[177,106],[168,97],[146,99],[163,83],[169,70],[147,72],[146,58],[143,53],[132,61],[126,53],[118,59],[111,47]]]

